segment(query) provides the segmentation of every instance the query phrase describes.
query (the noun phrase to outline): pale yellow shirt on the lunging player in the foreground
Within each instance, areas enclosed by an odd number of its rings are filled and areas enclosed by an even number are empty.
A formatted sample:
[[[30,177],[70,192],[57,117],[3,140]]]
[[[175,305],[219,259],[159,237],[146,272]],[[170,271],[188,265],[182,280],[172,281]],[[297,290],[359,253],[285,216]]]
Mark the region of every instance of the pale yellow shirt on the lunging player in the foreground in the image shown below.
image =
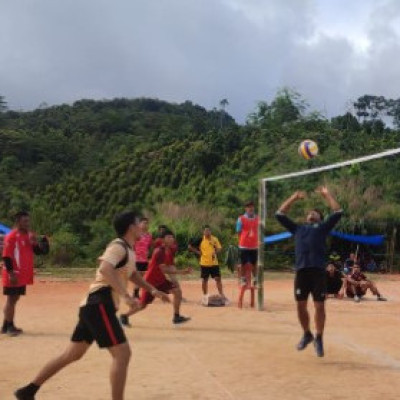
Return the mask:
[[[114,267],[118,265],[120,261],[125,258],[126,252],[128,250],[128,261],[125,265],[120,268],[117,268],[117,274],[119,279],[121,280],[124,287],[127,287],[129,278],[131,277],[132,273],[136,271],[136,260],[135,260],[135,253],[131,248],[125,249],[120,242],[121,239],[113,240],[106,248],[104,253],[99,257],[99,261],[107,261]],[[96,292],[99,289],[104,287],[109,287],[109,283],[104,278],[103,274],[99,271],[99,268],[96,271],[96,278],[94,282],[89,286],[89,293],[81,302],[81,307],[84,306],[88,300],[88,296],[91,293]],[[111,296],[115,305],[115,308],[118,309],[119,305],[119,294],[111,288]]]

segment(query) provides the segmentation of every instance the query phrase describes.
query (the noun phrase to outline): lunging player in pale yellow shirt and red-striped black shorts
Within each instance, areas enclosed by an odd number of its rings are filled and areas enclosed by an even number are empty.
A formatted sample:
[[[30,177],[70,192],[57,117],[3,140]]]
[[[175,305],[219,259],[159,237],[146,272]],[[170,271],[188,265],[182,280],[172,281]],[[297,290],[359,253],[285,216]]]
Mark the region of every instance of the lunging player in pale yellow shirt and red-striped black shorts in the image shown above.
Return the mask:
[[[81,303],[78,324],[68,347],[48,362],[30,384],[15,392],[18,400],[34,400],[43,383],[68,364],[79,360],[93,341],[96,341],[100,348],[106,348],[110,352],[111,398],[123,400],[131,350],[118,322],[116,310],[120,298],[129,307],[138,306],[137,300],[127,292],[128,280],[145,288],[153,296],[168,301],[168,296],[145,282],[136,271],[132,248],[140,236],[138,224],[138,216],[134,212],[124,212],[115,217],[114,228],[118,239],[113,240],[99,257],[100,266],[96,271],[96,278]]]

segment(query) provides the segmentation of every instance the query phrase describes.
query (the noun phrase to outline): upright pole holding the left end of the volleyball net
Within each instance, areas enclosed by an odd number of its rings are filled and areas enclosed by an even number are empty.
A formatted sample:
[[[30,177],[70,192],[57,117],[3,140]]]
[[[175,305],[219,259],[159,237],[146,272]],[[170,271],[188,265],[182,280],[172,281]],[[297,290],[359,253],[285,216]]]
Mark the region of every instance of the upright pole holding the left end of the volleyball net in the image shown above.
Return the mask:
[[[264,234],[267,217],[267,183],[260,179],[258,186],[258,258],[257,258],[257,310],[264,310]]]

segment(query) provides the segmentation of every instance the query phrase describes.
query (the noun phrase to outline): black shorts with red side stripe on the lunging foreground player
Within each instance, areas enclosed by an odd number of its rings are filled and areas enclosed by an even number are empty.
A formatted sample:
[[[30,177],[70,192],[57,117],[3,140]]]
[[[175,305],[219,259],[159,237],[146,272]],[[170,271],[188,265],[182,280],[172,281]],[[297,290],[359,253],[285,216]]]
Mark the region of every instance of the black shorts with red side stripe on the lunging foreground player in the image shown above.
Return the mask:
[[[86,304],[79,309],[79,321],[71,341],[92,344],[94,340],[101,348],[126,342],[112,302]]]

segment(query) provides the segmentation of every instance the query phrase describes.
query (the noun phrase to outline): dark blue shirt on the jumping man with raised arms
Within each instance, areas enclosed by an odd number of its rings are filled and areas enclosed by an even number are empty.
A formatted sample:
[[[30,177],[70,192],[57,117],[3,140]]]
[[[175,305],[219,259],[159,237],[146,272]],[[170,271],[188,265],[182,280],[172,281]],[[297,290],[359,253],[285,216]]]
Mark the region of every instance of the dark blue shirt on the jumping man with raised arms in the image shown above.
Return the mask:
[[[303,268],[325,268],[326,237],[339,222],[343,212],[336,211],[326,221],[316,224],[298,225],[285,214],[277,212],[276,219],[294,235],[296,270]]]

